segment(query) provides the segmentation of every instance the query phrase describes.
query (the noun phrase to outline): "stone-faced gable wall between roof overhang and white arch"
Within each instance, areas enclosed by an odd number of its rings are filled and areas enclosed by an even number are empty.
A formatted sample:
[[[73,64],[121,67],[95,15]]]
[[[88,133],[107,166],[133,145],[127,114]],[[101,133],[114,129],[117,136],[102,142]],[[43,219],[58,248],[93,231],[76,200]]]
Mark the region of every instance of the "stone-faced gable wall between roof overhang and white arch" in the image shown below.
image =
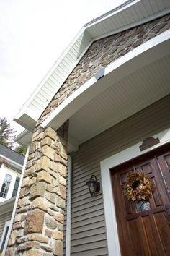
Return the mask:
[[[41,122],[102,67],[170,28],[170,15],[95,41],[49,103]]]

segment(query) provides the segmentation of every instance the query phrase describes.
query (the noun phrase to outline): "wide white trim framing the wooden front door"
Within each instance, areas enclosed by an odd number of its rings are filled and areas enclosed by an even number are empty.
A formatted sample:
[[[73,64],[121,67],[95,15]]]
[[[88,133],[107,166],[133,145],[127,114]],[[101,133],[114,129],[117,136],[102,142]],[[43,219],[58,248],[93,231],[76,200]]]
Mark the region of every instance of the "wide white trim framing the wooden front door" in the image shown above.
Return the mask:
[[[102,176],[102,190],[103,190],[103,201],[104,201],[104,216],[107,231],[107,245],[109,256],[120,256],[120,244],[117,233],[117,221],[115,216],[115,204],[113,200],[112,182],[110,176],[110,168],[130,161],[130,159],[136,158],[140,155],[150,152],[156,148],[165,145],[170,142],[170,128],[160,132],[153,137],[159,138],[160,143],[148,148],[147,150],[140,151],[140,145],[142,142],[133,145],[130,148],[122,150],[120,153],[112,155],[109,158],[104,159],[100,162],[101,176]]]

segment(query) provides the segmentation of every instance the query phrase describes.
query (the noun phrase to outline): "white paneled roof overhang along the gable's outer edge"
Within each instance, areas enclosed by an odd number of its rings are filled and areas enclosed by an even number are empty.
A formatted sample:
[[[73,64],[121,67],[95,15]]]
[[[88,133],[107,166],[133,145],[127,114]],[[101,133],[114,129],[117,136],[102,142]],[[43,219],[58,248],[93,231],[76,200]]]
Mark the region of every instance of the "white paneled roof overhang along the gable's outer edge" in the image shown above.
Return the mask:
[[[32,131],[42,111],[48,106],[94,40],[154,20],[169,12],[169,0],[130,0],[84,25],[24,103],[14,120]]]

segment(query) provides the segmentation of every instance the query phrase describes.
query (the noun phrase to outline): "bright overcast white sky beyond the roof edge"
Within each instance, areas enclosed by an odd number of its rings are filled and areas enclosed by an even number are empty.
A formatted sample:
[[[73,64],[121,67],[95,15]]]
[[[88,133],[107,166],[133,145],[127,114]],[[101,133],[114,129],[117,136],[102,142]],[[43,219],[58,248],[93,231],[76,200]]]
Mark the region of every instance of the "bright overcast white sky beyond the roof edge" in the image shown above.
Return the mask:
[[[14,116],[81,27],[125,0],[0,0],[0,116]]]

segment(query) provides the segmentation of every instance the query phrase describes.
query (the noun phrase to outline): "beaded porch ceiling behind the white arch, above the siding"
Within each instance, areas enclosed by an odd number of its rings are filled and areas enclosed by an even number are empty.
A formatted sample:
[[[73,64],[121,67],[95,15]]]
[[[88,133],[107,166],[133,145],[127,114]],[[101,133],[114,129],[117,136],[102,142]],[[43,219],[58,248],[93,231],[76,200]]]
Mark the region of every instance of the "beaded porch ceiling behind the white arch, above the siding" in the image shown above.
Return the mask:
[[[69,140],[79,145],[168,95],[169,67],[167,55],[111,84],[71,116]]]

